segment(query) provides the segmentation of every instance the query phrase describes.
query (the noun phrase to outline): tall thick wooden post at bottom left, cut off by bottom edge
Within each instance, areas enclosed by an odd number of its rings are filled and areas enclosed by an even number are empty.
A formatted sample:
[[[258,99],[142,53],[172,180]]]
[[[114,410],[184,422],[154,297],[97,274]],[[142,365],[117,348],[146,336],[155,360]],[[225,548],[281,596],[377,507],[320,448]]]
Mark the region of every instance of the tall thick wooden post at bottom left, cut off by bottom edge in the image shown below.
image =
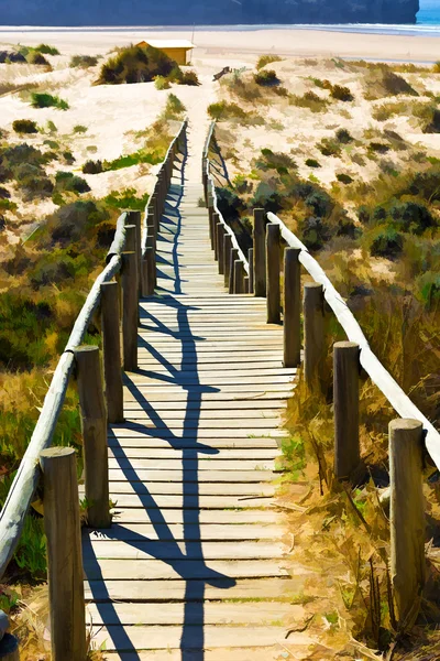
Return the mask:
[[[75,449],[40,455],[44,476],[44,530],[53,661],[86,661],[82,551]]]

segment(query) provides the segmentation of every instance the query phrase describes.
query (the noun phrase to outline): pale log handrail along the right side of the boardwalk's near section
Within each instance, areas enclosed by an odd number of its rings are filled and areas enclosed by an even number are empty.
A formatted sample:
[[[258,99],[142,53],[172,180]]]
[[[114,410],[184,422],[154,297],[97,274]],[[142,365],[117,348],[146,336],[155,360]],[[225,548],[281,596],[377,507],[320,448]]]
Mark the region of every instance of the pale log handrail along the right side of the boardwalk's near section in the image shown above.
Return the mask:
[[[306,271],[314,278],[315,282],[318,282],[322,285],[324,299],[333,311],[338,322],[345,330],[349,340],[356,343],[360,346],[361,365],[370,376],[373,383],[377,386],[377,388],[386,397],[393,409],[400,415],[400,418],[415,419],[422,423],[426,447],[436,466],[440,468],[439,432],[426,418],[426,415],[418,410],[416,404],[411,402],[409,397],[404,392],[397,381],[393,379],[391,373],[385,369],[375,354],[373,354],[369,342],[353,313],[342,299],[341,294],[337,292],[319,263],[310,254],[306,246],[298,239],[298,237],[294,235],[293,231],[287,229],[283,220],[275,216],[275,214],[268,213],[267,218],[271,223],[279,225],[280,235],[288,246],[292,248],[298,248],[300,250],[299,261]]]

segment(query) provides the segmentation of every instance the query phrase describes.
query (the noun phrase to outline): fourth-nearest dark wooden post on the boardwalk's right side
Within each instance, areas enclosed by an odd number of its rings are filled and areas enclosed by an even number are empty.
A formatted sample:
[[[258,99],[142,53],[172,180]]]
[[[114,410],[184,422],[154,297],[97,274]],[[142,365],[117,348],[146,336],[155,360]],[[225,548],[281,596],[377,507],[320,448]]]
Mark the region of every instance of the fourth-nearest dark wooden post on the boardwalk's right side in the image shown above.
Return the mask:
[[[299,248],[286,248],[284,251],[284,367],[297,367],[301,361],[300,252]]]

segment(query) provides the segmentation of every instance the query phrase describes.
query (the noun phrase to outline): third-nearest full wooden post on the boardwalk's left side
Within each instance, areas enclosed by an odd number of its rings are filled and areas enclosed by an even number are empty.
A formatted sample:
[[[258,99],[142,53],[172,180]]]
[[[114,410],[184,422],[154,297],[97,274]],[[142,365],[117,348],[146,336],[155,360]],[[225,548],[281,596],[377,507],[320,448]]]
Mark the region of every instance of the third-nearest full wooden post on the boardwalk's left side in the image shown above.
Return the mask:
[[[103,373],[109,422],[123,422],[119,284],[101,284]]]

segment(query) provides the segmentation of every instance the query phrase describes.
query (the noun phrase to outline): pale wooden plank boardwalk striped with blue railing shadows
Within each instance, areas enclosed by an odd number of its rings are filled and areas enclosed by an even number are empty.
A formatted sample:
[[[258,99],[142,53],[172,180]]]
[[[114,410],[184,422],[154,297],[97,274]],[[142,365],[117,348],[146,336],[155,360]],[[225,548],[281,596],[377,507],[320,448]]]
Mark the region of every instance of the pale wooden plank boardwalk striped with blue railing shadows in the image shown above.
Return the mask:
[[[185,172],[161,223],[156,295],[140,303],[127,421],[110,426],[113,525],[84,533],[88,611],[111,661],[267,661],[297,592],[271,507],[295,370],[266,301],[226,292]]]

